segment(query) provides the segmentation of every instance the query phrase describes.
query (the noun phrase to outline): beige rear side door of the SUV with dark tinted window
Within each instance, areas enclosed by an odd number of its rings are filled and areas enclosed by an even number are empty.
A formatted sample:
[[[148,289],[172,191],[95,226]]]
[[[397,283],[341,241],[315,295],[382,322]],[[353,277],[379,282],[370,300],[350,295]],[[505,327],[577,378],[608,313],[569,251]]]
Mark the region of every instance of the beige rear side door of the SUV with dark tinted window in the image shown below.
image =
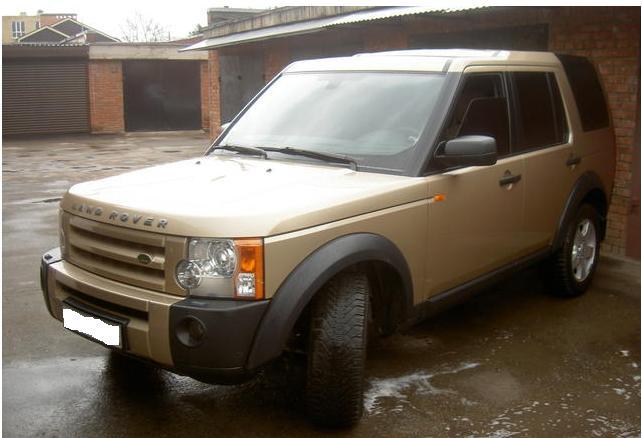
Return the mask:
[[[524,159],[524,249],[545,247],[578,177],[567,109],[558,75],[543,68],[516,67],[508,74],[513,141],[511,154]]]

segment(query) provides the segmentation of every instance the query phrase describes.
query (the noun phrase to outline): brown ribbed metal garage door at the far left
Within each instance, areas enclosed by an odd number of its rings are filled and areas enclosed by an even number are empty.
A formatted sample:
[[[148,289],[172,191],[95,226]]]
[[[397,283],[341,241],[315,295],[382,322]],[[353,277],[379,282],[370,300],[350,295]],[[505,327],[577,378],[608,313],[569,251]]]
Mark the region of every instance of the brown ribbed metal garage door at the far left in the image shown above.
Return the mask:
[[[2,133],[89,132],[87,62],[2,64]]]

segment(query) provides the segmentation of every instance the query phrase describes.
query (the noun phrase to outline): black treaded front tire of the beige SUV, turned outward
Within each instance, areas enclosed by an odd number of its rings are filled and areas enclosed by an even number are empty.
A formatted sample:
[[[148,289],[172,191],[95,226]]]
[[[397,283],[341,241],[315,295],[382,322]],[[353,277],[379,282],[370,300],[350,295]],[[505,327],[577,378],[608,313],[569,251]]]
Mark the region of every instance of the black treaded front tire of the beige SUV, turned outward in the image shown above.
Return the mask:
[[[337,275],[312,302],[305,398],[318,425],[344,427],[361,418],[368,312],[368,279],[359,272]]]

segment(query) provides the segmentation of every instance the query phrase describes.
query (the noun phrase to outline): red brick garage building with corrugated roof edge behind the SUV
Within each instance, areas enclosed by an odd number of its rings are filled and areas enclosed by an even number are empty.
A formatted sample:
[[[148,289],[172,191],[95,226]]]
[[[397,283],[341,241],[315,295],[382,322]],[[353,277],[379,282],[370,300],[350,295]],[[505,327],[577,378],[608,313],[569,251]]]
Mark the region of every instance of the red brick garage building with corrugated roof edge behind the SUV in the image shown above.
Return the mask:
[[[548,50],[598,67],[617,142],[604,251],[640,254],[640,8],[286,7],[210,28],[211,135],[297,59],[405,48]]]

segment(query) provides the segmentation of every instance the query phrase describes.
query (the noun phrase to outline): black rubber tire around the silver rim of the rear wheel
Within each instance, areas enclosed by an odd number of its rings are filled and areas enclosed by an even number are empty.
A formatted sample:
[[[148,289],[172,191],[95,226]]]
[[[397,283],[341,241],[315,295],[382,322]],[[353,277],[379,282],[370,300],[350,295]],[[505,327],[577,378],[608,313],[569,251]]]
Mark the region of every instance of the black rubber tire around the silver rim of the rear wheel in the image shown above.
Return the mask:
[[[594,260],[590,269],[587,269],[588,273],[586,276],[576,275],[579,271],[576,271],[573,267],[573,243],[575,235],[578,232],[578,226],[586,223],[585,221],[589,221],[592,224],[596,235]],[[562,235],[562,245],[560,249],[552,255],[549,262],[551,292],[554,295],[576,297],[586,292],[591,285],[600,257],[600,236],[602,235],[600,224],[600,217],[595,207],[590,204],[582,204],[566,229],[562,231],[564,233]],[[580,278],[578,278],[578,276]]]

